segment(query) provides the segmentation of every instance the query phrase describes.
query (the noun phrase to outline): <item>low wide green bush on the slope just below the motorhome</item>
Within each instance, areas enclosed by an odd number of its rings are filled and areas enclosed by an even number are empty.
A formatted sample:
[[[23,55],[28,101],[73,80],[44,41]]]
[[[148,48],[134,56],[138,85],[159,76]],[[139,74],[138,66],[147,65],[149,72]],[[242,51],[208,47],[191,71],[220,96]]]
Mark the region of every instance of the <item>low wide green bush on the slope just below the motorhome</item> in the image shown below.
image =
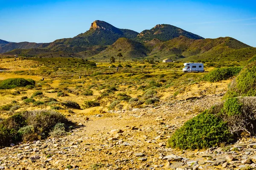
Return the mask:
[[[206,74],[202,79],[207,82],[218,82],[236,76],[241,69],[242,67],[217,68]]]

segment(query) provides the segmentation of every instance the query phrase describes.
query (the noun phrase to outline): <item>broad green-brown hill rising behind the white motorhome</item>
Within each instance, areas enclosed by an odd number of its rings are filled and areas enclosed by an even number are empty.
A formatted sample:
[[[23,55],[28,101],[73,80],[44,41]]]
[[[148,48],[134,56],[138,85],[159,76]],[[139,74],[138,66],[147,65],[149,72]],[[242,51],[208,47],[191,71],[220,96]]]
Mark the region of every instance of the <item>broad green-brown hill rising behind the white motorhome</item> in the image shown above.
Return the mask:
[[[151,41],[146,44],[148,45],[148,43],[151,43]],[[232,51],[246,48],[250,48],[250,46],[231,37],[193,40],[188,37],[180,36],[166,42],[157,43],[151,47],[151,52],[148,55],[151,57],[167,57],[171,59],[181,59],[186,57],[195,60],[213,59],[218,58],[221,55],[231,54]],[[239,56],[241,55],[244,54],[240,53]],[[247,56],[250,57],[250,55]]]

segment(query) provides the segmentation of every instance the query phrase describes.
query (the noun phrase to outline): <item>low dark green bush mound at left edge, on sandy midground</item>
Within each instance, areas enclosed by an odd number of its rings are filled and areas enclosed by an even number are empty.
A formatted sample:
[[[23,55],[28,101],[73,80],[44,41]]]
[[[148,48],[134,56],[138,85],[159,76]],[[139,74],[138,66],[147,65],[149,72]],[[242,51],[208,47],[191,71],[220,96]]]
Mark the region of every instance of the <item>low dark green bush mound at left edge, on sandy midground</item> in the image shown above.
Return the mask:
[[[35,81],[32,79],[23,79],[23,78],[5,79],[0,82],[0,89],[26,87],[27,85],[35,85]]]

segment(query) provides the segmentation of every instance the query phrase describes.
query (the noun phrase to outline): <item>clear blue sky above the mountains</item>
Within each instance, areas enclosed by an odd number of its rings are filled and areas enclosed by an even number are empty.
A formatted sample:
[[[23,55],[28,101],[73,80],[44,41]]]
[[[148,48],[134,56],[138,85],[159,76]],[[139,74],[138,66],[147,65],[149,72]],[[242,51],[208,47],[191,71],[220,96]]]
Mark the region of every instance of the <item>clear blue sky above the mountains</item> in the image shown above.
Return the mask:
[[[137,32],[171,24],[204,38],[233,37],[256,47],[251,0],[0,0],[0,39],[52,42],[103,20]]]

